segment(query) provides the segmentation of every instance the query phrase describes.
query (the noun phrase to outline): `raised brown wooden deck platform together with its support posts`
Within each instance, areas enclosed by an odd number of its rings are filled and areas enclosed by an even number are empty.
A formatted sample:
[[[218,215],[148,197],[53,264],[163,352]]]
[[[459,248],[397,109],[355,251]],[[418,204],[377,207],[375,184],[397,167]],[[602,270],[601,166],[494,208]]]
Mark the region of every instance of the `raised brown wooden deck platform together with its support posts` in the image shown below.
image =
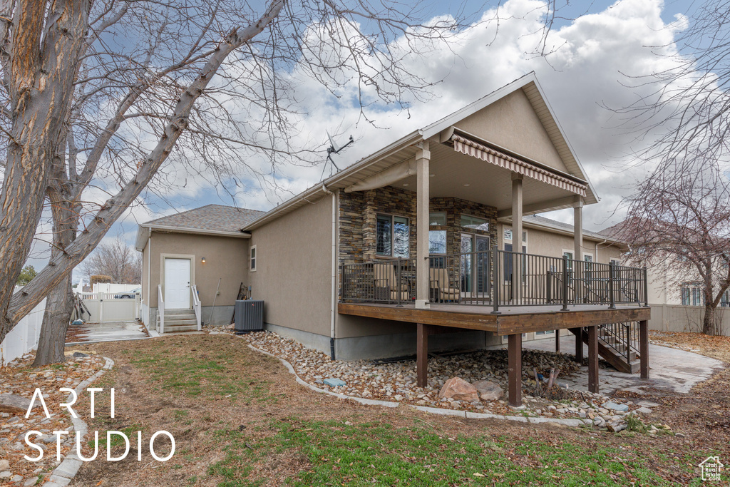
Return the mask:
[[[509,399],[510,405],[522,404],[522,334],[531,331],[573,329],[577,333],[576,356],[583,360],[583,334],[588,342],[588,390],[599,391],[599,325],[611,323],[639,322],[639,356],[641,377],[649,377],[649,307],[636,304],[617,305],[615,308],[595,304],[579,304],[561,311],[561,306],[504,306],[499,314],[492,307],[470,304],[431,303],[428,310],[415,309],[414,304],[383,303],[339,303],[337,310],[343,315],[364,316],[380,320],[416,323],[416,369],[418,386],[428,383],[429,334],[442,333],[449,328],[491,331],[497,335],[507,335],[509,358]],[[587,330],[585,330],[587,328]],[[556,334],[560,337],[560,334]],[[556,342],[559,343],[559,342]],[[580,350],[580,351],[579,351]],[[558,350],[556,350],[558,351]]]

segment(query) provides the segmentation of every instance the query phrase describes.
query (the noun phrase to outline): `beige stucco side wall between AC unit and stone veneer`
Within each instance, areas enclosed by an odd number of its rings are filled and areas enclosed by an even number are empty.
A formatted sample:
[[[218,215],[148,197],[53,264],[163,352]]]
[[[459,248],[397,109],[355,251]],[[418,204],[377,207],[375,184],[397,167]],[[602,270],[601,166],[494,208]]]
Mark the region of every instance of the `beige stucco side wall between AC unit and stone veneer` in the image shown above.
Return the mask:
[[[331,327],[332,199],[325,196],[251,233],[253,299],[264,321],[329,337]]]

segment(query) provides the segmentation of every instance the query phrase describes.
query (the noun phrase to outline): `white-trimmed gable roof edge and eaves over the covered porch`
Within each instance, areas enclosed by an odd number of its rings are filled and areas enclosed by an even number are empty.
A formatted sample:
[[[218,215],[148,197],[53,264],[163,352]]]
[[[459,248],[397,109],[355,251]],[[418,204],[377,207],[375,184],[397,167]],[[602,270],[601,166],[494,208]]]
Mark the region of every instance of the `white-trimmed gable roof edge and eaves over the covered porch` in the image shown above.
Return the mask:
[[[545,93],[542,91],[542,88],[537,82],[537,77],[534,72],[530,72],[525,74],[523,77],[512,81],[512,83],[504,85],[502,88],[499,88],[498,90],[483,96],[477,101],[466,105],[466,107],[461,108],[461,110],[457,110],[456,112],[453,112],[434,123],[424,126],[422,129],[412,131],[405,137],[401,137],[401,139],[396,140],[396,142],[383,147],[377,152],[372,153],[370,156],[362,158],[355,164],[342,169],[342,171],[338,172],[336,175],[328,177],[328,179],[324,180],[322,183],[312,186],[306,191],[299,193],[299,195],[288,199],[288,201],[283,204],[277,205],[277,207],[269,210],[269,212],[266,212],[264,215],[255,218],[255,220],[250,221],[242,227],[242,230],[250,231],[256,229],[269,221],[296,210],[304,204],[308,204],[309,202],[321,198],[325,194],[331,193],[332,189],[347,188],[348,186],[363,180],[365,177],[372,176],[377,172],[383,171],[383,169],[387,169],[392,165],[392,163],[385,161],[388,156],[393,156],[396,153],[401,153],[405,158],[412,156],[415,154],[415,147],[412,146],[415,145],[416,142],[430,139],[431,137],[438,137],[442,131],[449,129],[454,125],[454,123],[458,123],[459,120],[463,120],[469,115],[475,114],[479,110],[493,104],[495,101],[504,98],[504,96],[520,89],[523,90],[528,97],[535,113],[542,125],[545,127],[545,131],[547,131],[550,141],[556,147],[556,150],[558,150],[561,158],[563,158],[566,168],[571,172],[572,176],[587,183],[588,192],[585,197],[585,202],[587,204],[597,203],[599,199],[598,196],[596,196],[596,191],[593,189],[593,185],[591,185],[591,182],[585,175],[583,166],[581,166],[580,162],[577,161],[577,158],[575,158],[575,153],[566,139],[563,130],[558,124],[558,121],[553,114],[553,110],[550,108],[550,105],[545,98]],[[517,156],[520,155],[518,154]]]

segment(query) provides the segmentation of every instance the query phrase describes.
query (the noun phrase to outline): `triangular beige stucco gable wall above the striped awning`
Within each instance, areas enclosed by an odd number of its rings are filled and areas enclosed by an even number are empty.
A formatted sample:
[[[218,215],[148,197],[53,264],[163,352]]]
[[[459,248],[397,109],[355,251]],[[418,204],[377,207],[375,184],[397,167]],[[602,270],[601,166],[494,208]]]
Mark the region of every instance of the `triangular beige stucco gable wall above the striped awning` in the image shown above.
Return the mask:
[[[456,126],[521,156],[569,172],[522,90],[504,96]]]

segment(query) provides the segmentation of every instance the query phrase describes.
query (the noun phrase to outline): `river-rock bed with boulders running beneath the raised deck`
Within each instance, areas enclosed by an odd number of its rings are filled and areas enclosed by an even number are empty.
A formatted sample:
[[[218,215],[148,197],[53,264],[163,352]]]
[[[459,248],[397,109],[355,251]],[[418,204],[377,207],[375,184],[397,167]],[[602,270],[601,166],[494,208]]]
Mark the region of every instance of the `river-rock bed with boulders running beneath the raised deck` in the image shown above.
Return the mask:
[[[365,399],[380,399],[426,407],[493,413],[499,415],[526,415],[545,418],[580,418],[586,424],[620,430],[626,427],[626,416],[650,413],[647,406],[634,404],[628,399],[608,398],[601,394],[561,389],[559,401],[532,396],[536,386],[533,369],[548,377],[550,368],[560,369],[560,377],[575,372],[578,364],[572,356],[539,350],[523,350],[523,404],[515,410],[507,398],[492,401],[458,401],[439,397],[444,383],[460,377],[468,383],[488,380],[507,391],[507,350],[478,350],[471,353],[438,354],[429,356],[429,386],[420,388],[416,383],[415,360],[378,363],[377,361],[331,360],[325,353],[301,345],[296,340],[261,331],[245,335],[244,340],[255,348],[284,358],[292,364],[297,375],[307,383],[328,391]],[[558,377],[558,384],[561,383]],[[328,380],[329,379],[329,380]],[[344,386],[329,386],[342,380]],[[336,381],[335,381],[336,382]],[[666,428],[656,429],[665,430]]]

